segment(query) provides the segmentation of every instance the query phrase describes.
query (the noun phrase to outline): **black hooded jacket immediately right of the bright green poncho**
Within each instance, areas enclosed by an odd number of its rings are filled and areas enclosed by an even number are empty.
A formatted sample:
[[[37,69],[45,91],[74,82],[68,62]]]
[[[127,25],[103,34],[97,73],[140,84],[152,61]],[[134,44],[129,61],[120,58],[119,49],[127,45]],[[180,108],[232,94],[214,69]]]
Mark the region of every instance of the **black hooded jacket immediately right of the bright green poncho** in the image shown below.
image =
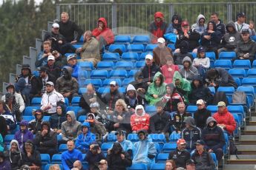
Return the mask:
[[[194,86],[194,81],[199,81],[200,85],[198,87]],[[188,95],[189,103],[196,104],[199,99],[203,99],[209,105],[212,102],[213,95],[208,87],[203,85],[203,79],[200,75],[195,75],[191,82],[191,93]]]

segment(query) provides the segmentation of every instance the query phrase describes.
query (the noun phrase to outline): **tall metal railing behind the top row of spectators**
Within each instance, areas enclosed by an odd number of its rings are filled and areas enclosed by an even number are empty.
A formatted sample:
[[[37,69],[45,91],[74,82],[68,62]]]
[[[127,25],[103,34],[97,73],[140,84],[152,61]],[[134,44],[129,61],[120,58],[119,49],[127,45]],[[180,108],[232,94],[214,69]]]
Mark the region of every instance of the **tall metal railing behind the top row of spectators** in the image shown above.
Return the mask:
[[[209,21],[213,12],[219,13],[219,18],[224,23],[235,21],[237,13],[244,12],[249,22],[256,17],[256,2],[58,4],[58,20],[64,11],[69,13],[70,19],[82,27],[82,30],[93,30],[98,18],[104,17],[108,21],[108,27],[116,34],[145,34],[148,33],[148,26],[157,11],[164,13],[168,23],[174,13],[194,24],[200,13]]]

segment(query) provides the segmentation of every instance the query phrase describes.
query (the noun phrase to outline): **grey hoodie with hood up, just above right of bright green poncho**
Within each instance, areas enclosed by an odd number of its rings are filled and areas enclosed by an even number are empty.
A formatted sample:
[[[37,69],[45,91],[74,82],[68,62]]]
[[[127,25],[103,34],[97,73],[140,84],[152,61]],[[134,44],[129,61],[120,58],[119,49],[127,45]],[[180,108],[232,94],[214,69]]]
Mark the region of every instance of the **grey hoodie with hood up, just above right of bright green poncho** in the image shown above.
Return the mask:
[[[193,78],[194,78],[194,75],[198,75],[199,73],[198,73],[198,71],[197,71],[197,68],[194,67],[194,66],[192,66],[191,59],[190,59],[188,56],[186,56],[185,58],[183,58],[183,64],[184,64],[185,61],[188,61],[189,64],[190,64],[189,69],[186,70],[186,69],[184,69],[184,67],[183,67],[182,69],[180,69],[179,72],[180,72],[180,75],[183,76],[183,78],[185,78],[186,80],[188,80],[188,81],[191,82],[191,81],[193,80]]]

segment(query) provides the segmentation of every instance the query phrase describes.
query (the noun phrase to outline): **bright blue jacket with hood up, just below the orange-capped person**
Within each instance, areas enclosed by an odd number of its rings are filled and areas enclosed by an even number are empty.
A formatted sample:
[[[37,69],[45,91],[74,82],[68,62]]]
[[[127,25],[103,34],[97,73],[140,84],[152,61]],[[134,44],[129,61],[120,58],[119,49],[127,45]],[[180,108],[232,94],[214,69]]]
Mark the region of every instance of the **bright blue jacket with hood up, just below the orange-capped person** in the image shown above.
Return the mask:
[[[80,134],[76,139],[76,149],[89,150],[89,146],[91,143],[96,141],[96,136],[91,133],[90,123],[84,122],[82,123],[82,128],[86,126],[88,128],[88,132],[84,135]]]

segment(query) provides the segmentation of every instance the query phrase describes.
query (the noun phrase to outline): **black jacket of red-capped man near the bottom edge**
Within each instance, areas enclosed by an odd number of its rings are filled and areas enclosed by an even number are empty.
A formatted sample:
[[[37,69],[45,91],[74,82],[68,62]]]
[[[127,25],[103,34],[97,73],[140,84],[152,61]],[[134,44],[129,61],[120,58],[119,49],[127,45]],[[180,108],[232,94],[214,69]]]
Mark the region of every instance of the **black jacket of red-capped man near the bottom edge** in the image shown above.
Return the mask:
[[[169,154],[168,160],[174,160],[177,168],[183,167],[186,169],[186,161],[190,160],[190,153],[186,150],[180,152],[178,149],[176,149],[176,151],[172,151]]]

